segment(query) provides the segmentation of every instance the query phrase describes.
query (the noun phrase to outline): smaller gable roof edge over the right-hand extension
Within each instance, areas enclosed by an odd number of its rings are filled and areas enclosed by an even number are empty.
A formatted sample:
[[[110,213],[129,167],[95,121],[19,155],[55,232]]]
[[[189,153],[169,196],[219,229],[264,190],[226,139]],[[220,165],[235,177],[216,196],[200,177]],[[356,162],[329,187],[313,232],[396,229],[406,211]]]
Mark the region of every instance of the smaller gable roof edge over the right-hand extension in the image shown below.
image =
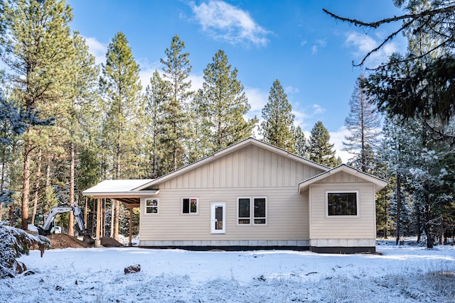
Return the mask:
[[[382,180],[378,177],[370,175],[366,172],[362,172],[354,167],[350,167],[346,164],[338,165],[337,167],[333,167],[331,170],[327,170],[326,172],[321,172],[321,174],[311,177],[307,180],[304,180],[299,183],[299,192],[303,192],[306,190],[311,184],[314,184],[318,181],[325,179],[331,175],[335,175],[338,172],[346,172],[350,175],[355,175],[355,177],[359,177],[360,179],[367,180],[375,184],[375,192],[378,192],[380,189],[387,185],[387,181]]]

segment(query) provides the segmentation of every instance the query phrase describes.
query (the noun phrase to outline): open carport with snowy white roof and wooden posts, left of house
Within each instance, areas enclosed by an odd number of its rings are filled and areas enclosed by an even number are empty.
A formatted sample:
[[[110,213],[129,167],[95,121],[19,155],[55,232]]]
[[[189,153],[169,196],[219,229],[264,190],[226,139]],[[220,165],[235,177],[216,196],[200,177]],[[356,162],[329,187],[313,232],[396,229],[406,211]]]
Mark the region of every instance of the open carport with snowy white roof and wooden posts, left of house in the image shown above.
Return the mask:
[[[152,179],[105,180],[82,192],[83,196],[97,199],[95,247],[101,246],[102,224],[100,223],[102,222],[102,199],[117,200],[122,202],[123,205],[129,209],[129,246],[132,246],[133,209],[135,207],[140,207],[141,196],[153,196],[159,192],[158,189],[137,190],[137,188],[151,181]]]

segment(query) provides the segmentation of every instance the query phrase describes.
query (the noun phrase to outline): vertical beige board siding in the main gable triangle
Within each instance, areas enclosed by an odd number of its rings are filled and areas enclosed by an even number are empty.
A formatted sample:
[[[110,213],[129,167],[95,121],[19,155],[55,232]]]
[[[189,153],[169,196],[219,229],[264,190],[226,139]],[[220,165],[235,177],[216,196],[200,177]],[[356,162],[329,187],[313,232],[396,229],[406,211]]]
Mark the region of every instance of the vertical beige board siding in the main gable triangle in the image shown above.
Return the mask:
[[[257,145],[247,145],[219,159],[158,184],[162,189],[296,187],[323,172]]]

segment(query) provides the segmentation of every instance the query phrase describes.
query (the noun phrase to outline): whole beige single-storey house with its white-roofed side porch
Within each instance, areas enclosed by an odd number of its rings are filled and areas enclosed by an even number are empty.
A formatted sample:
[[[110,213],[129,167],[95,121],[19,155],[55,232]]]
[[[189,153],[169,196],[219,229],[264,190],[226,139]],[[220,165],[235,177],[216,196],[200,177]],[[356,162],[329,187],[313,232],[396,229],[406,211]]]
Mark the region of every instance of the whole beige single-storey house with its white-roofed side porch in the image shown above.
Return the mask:
[[[155,180],[108,180],[82,194],[139,207],[139,246],[375,252],[384,180],[329,168],[248,138]]]

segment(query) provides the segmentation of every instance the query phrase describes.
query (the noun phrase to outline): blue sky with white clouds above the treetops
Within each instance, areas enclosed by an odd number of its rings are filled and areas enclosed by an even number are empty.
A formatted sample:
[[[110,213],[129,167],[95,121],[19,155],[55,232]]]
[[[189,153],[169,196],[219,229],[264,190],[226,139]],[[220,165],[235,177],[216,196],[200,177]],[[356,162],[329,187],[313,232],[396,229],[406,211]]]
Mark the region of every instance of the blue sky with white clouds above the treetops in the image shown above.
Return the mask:
[[[392,0],[68,0],[73,8],[72,28],[87,39],[97,62],[105,61],[106,47],[122,31],[141,67],[145,87],[160,59],[179,35],[193,70],[193,89],[202,86],[203,70],[222,49],[252,106],[250,116],[261,119],[270,87],[279,79],[296,116],[308,135],[322,121],[343,162],[344,120],[355,79],[353,67],[378,45],[390,27],[365,31],[335,21],[333,13],[363,21],[400,14]],[[386,45],[368,62],[374,67],[387,55],[405,50],[405,39]]]

